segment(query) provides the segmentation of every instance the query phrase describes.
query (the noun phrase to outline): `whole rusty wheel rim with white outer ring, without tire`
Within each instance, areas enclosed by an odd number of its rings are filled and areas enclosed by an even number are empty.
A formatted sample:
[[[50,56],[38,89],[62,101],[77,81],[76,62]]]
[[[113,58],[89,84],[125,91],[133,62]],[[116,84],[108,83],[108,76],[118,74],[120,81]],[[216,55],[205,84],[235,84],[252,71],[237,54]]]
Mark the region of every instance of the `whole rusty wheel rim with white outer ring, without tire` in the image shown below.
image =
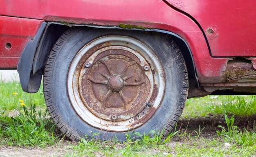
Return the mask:
[[[148,121],[164,96],[164,70],[143,43],[103,36],[85,45],[68,74],[74,110],[101,130],[124,132]]]

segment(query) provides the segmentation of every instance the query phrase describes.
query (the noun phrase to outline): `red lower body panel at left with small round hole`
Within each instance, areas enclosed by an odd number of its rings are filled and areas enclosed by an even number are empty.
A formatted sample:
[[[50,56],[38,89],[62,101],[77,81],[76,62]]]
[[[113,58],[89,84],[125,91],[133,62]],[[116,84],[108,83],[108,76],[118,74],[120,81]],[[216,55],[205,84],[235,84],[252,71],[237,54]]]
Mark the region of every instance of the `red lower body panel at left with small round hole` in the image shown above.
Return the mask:
[[[0,16],[0,68],[16,69],[27,42],[34,38],[43,20]],[[11,48],[6,46],[11,44]]]

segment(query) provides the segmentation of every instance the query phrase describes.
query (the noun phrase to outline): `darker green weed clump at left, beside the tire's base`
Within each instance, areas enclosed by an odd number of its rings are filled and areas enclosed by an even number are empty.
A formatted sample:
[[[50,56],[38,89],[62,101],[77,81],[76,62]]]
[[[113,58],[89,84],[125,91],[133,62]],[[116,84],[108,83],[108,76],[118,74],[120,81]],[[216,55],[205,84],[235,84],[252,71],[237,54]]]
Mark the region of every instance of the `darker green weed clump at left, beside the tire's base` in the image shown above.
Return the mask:
[[[23,112],[16,117],[0,117],[1,141],[10,146],[46,146],[55,144],[58,137],[54,136],[51,119],[46,118],[47,110],[42,115],[36,112],[35,105],[29,109],[23,106]],[[50,128],[49,128],[50,127]]]

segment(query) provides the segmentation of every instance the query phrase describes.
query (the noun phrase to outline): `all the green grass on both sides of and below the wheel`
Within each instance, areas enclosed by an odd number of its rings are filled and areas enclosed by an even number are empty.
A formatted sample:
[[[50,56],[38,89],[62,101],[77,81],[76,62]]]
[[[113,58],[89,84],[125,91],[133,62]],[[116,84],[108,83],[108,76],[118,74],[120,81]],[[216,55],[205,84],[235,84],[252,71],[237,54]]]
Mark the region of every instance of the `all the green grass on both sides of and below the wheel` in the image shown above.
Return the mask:
[[[25,105],[21,105],[20,100]],[[181,117],[183,119],[229,115],[225,116],[225,125],[213,127],[213,135],[210,137],[204,136],[208,134],[209,127],[197,124],[192,132],[176,128],[176,132],[167,139],[162,138],[162,132],[150,132],[152,137],[133,132],[141,139],[135,140],[127,135],[124,143],[115,139],[99,141],[97,134],[96,139],[87,140],[85,137],[80,142],[70,143],[60,136],[52,120],[48,118],[42,87],[35,94],[27,94],[22,92],[19,83],[0,82],[0,104],[0,146],[58,147],[66,144],[68,148],[61,149],[68,151],[65,155],[68,157],[256,156],[256,122],[252,128],[239,128],[236,125],[237,119],[230,117],[233,114],[236,117],[256,114],[256,96],[206,96],[189,99]],[[12,112],[14,114],[10,117]],[[225,146],[225,143],[230,146]]]

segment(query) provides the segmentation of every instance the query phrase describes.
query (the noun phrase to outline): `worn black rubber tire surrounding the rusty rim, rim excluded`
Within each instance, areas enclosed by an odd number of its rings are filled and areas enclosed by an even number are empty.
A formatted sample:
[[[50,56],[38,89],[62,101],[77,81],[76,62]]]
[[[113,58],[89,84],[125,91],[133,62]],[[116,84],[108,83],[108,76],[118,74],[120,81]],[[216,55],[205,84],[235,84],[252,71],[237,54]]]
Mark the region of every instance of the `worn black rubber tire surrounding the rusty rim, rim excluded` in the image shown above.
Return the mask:
[[[144,43],[159,58],[165,70],[165,92],[162,103],[155,113],[143,125],[135,129],[141,134],[150,130],[164,129],[168,135],[182,114],[188,94],[188,74],[182,53],[175,42],[166,34],[149,31],[131,31],[119,29],[68,29],[56,42],[45,65],[43,89],[45,102],[56,126],[72,140],[80,137],[97,137],[108,140],[116,137],[126,140],[125,132],[111,132],[90,126],[75,112],[67,92],[67,74],[76,53],[90,41],[107,35],[129,36]],[[132,132],[131,130],[130,132]]]

